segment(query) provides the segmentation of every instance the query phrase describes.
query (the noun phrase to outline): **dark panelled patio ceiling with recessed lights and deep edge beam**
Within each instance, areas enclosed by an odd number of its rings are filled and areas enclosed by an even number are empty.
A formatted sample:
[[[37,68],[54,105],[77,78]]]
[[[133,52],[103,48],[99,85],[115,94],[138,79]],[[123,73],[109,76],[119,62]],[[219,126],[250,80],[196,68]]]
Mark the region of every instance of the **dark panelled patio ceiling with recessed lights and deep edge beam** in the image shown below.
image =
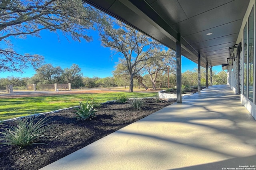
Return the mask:
[[[84,0],[201,66],[227,64],[250,0]],[[211,35],[206,35],[212,33]]]

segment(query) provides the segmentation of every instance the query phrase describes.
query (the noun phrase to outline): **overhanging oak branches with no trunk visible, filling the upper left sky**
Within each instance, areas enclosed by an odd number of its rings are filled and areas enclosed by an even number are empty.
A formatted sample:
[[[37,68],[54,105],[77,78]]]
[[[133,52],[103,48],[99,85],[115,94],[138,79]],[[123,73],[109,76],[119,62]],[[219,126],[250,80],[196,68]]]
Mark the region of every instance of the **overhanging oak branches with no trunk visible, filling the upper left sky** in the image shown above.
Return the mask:
[[[23,72],[43,64],[44,57],[20,54],[13,49],[11,37],[40,37],[41,30],[62,32],[68,38],[91,41],[88,30],[94,28],[96,9],[82,0],[1,0],[0,1],[0,72]]]

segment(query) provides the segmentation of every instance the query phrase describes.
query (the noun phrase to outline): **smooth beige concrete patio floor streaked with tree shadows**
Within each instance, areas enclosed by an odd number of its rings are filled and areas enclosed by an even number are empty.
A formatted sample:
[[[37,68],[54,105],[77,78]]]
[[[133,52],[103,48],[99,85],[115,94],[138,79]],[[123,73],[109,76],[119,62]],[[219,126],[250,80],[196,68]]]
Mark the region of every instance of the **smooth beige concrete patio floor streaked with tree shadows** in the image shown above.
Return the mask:
[[[256,169],[256,121],[241,105],[240,95],[228,85],[218,85],[42,170],[242,170],[244,166]]]

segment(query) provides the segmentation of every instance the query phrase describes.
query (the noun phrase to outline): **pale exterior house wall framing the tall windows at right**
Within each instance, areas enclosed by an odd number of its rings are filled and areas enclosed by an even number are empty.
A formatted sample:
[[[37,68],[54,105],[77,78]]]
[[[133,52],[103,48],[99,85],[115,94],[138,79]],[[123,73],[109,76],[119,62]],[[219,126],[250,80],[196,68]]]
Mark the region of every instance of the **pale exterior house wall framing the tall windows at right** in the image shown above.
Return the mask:
[[[254,63],[253,63],[253,69],[254,69],[254,75],[253,75],[253,79],[254,79],[254,83],[253,83],[253,87],[254,87],[254,91],[253,91],[253,101],[250,101],[248,99],[248,94],[244,94],[244,27],[246,26],[246,23],[248,22],[248,17],[250,15],[250,12],[252,10],[252,8],[254,7]],[[244,19],[242,22],[242,26],[240,28],[240,32],[238,34],[238,39],[236,40],[236,44],[237,43],[242,43],[242,51],[240,53],[240,62],[238,61],[238,58],[235,59],[235,61],[233,61],[233,65],[229,65],[228,66],[228,85],[231,87],[231,89],[234,91],[234,93],[238,94],[239,93],[239,88],[238,88],[238,74],[240,75],[240,96],[241,96],[241,103],[242,105],[244,105],[246,107],[246,109],[252,114],[252,116],[254,117],[254,119],[256,119],[256,105],[255,103],[255,78],[256,78],[256,67],[255,67],[255,28],[256,28],[256,24],[255,24],[255,19],[256,19],[256,15],[255,15],[255,0],[250,0],[250,3],[248,5],[246,14],[244,15]],[[240,70],[238,70],[238,64],[240,63]],[[248,78],[248,75],[246,76]],[[248,84],[248,83],[247,83]]]

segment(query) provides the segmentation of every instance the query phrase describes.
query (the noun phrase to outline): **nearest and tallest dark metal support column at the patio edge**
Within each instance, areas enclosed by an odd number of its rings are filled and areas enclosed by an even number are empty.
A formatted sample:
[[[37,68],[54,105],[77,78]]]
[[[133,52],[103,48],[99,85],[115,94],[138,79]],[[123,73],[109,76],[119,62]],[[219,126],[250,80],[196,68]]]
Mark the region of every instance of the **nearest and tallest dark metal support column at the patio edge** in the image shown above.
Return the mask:
[[[180,34],[176,42],[176,75],[177,75],[177,103],[182,103],[181,98],[181,43],[180,43]]]

